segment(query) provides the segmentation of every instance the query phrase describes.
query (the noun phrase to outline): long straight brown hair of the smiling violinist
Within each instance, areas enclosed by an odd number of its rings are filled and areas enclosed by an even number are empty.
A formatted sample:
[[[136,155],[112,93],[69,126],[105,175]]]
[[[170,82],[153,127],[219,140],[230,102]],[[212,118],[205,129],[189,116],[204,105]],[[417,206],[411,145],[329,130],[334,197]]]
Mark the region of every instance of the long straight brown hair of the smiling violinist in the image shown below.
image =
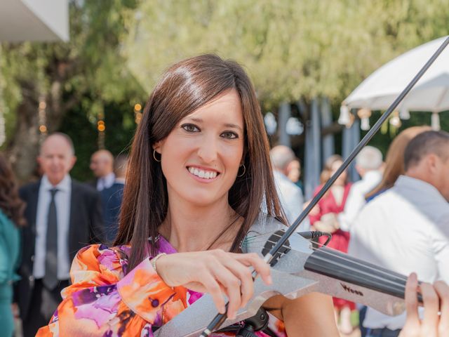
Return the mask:
[[[246,173],[236,177],[229,190],[229,205],[243,223],[232,244],[239,244],[256,220],[264,199],[271,216],[281,216],[269,159],[269,143],[253,85],[243,68],[217,55],[200,55],[170,67],[149,96],[130,152],[126,186],[115,245],[130,244],[129,269],[149,253],[148,237],[156,237],[166,218],[168,194],[161,165],[153,158],[152,145],[163,140],[180,119],[234,89],[245,121],[243,164]],[[152,244],[152,253],[156,249]]]

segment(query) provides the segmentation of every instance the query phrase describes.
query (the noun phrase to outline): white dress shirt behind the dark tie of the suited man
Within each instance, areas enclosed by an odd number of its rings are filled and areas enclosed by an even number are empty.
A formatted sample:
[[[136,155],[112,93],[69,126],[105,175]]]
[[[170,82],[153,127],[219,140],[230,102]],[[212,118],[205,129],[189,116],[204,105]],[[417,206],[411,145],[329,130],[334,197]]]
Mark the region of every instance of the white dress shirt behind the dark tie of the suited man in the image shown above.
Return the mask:
[[[41,179],[36,213],[36,246],[34,247],[33,276],[41,279],[45,275],[48,208],[51,202],[50,190],[56,188],[56,218],[58,220],[58,279],[69,279],[69,224],[72,179],[65,176],[58,185],[51,185],[47,176]]]

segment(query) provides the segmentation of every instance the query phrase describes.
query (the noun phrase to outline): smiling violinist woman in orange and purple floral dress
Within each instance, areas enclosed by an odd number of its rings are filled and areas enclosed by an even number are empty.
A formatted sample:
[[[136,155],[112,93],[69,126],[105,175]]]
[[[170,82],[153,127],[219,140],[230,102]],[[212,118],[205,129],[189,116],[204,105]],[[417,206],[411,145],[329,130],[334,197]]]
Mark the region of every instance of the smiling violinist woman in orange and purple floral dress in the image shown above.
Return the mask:
[[[115,246],[79,251],[72,285],[38,336],[152,336],[203,292],[220,312],[226,295],[232,318],[253,293],[248,266],[271,282],[260,257],[239,253],[262,201],[283,217],[260,107],[235,62],[201,55],[167,70],[145,105],[126,181]],[[276,336],[338,336],[328,296],[265,306]]]

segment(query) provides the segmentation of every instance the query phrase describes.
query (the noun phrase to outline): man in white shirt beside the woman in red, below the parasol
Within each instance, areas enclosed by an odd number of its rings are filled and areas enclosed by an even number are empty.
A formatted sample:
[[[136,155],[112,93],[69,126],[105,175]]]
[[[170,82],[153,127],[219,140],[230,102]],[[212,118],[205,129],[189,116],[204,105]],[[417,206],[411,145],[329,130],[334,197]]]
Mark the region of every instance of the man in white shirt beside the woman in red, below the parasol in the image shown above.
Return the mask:
[[[382,166],[382,152],[373,146],[363,147],[356,157],[356,170],[361,176],[351,186],[344,211],[338,215],[340,229],[349,231],[358,212],[366,204],[365,194],[373,190],[382,180],[380,167]]]

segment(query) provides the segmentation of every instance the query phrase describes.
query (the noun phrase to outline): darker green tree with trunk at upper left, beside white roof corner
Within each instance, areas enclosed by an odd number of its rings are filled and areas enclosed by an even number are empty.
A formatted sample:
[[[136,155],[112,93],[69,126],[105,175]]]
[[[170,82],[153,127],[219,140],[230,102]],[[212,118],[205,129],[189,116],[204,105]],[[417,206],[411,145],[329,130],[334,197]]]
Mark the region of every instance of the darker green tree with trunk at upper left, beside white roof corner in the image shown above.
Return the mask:
[[[123,67],[120,53],[127,34],[123,22],[135,6],[135,0],[72,1],[69,42],[1,45],[6,150],[20,179],[34,170],[40,102],[46,106],[47,132],[60,130],[67,113],[76,110],[91,121],[95,134],[105,107],[127,102],[132,111],[133,103],[142,99],[142,88]],[[78,132],[70,124],[69,130]]]

